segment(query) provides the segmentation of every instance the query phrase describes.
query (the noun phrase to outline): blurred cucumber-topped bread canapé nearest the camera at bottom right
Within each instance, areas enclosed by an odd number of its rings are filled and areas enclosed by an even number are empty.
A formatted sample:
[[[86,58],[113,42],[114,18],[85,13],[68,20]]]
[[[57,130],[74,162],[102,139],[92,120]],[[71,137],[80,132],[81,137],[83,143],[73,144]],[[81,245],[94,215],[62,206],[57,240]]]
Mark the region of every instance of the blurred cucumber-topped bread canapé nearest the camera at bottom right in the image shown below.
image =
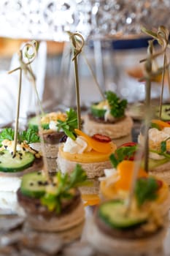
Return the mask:
[[[150,187],[151,181],[150,178],[136,181],[129,209],[126,200],[118,199],[98,206],[86,230],[88,241],[98,252],[123,256],[160,252],[168,218],[162,217],[157,209],[157,195],[155,187]]]

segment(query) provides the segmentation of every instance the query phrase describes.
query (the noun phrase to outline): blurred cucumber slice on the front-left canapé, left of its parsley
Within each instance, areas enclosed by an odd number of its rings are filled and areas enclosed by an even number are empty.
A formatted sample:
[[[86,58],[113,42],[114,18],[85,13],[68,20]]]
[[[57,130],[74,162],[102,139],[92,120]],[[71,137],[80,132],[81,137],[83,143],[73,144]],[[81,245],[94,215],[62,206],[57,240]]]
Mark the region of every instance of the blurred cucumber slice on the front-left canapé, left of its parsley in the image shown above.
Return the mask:
[[[45,194],[45,186],[47,178],[42,175],[42,172],[27,173],[23,176],[20,191],[28,197],[39,198]]]

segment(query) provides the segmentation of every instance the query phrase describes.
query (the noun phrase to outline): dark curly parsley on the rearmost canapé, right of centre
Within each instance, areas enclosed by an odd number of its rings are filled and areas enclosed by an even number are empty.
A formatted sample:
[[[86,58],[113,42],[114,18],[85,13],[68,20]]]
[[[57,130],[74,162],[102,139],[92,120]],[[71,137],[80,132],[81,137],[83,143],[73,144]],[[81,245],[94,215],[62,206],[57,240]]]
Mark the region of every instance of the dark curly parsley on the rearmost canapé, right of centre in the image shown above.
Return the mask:
[[[126,99],[120,99],[117,97],[115,93],[112,91],[106,91],[105,96],[109,102],[110,106],[110,113],[115,118],[120,118],[125,116],[125,108],[127,107],[127,100]]]

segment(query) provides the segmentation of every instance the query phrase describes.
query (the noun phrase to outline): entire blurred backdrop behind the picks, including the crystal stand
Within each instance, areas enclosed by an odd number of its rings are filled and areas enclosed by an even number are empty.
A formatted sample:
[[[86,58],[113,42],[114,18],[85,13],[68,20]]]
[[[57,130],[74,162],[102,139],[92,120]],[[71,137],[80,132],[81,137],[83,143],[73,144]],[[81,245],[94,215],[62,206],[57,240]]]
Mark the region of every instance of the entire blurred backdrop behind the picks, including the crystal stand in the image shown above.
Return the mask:
[[[0,123],[15,118],[18,74],[16,53],[23,42],[40,42],[34,64],[37,88],[46,111],[75,106],[74,67],[66,31],[85,37],[83,53],[102,91],[115,91],[129,103],[143,102],[144,69],[139,61],[147,54],[148,37],[141,27],[170,27],[169,0],[1,0],[0,2]],[[158,60],[158,62],[161,59]],[[10,76],[10,78],[9,78]],[[80,104],[88,108],[101,99],[83,55],[79,57]],[[35,110],[34,91],[23,78],[21,117]],[[152,99],[161,92],[161,78],[152,83]],[[163,99],[169,101],[166,85]]]

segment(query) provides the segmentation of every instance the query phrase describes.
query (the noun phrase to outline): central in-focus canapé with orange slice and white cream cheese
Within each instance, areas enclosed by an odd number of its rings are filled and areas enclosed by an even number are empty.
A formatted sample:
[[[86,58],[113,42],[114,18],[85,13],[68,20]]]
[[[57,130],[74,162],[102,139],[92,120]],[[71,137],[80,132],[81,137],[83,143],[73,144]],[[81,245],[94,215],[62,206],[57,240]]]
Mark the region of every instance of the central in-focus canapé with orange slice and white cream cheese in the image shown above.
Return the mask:
[[[116,146],[104,135],[90,137],[80,129],[74,129],[72,138],[68,137],[58,151],[58,168],[63,173],[72,172],[75,165],[81,164],[88,178],[103,176],[104,168],[111,167],[109,155]]]

